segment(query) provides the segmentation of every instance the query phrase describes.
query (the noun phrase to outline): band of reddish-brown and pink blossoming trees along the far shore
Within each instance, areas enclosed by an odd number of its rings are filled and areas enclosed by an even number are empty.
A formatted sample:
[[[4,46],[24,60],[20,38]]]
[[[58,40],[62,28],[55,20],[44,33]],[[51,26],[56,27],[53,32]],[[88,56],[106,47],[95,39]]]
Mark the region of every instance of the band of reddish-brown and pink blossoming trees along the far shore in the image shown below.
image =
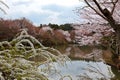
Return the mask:
[[[49,24],[55,25],[57,24]],[[66,25],[66,26],[64,26]],[[79,45],[100,44],[100,39],[109,36],[113,31],[107,24],[64,24],[54,29],[47,25],[39,28],[26,18],[5,20],[0,19],[0,41],[11,41],[20,32],[21,28],[27,28],[28,33],[34,36],[42,44],[58,45],[78,43]],[[55,27],[54,26],[54,27]],[[69,26],[72,26],[70,28]],[[94,29],[93,29],[94,28]],[[62,30],[61,30],[62,29]]]

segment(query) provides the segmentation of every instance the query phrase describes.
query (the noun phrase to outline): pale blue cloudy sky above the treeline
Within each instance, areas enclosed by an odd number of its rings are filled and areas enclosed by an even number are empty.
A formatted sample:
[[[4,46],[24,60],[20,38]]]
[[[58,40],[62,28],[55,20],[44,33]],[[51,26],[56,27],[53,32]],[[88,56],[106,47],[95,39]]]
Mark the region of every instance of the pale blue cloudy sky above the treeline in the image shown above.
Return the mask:
[[[7,15],[0,16],[8,19],[26,17],[34,24],[64,24],[76,22],[73,10],[82,5],[79,0],[3,0],[10,9],[3,7]]]

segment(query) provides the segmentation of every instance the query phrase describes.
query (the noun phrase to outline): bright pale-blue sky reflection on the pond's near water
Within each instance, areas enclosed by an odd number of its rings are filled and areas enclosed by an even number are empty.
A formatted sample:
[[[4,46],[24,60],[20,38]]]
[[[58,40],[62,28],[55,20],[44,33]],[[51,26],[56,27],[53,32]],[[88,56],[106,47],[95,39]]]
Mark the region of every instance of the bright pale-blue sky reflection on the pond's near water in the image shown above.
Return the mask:
[[[67,62],[67,66],[52,64],[58,73],[49,73],[50,80],[59,80],[63,76],[71,76],[73,80],[110,80],[114,77],[111,67],[103,62],[72,61]],[[92,71],[93,70],[93,71]],[[83,78],[84,77],[84,78]],[[90,79],[85,79],[90,78]],[[63,79],[70,80],[70,79]]]

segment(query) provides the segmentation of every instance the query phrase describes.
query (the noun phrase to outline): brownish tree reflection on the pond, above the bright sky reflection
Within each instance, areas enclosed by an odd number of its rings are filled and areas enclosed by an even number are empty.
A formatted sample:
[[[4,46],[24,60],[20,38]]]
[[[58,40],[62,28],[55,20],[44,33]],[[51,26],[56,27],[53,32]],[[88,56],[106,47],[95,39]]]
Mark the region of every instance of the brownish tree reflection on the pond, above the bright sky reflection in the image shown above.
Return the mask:
[[[88,59],[101,61],[102,50],[94,46],[78,46],[78,45],[61,45],[53,46],[58,49],[62,54],[68,55],[72,60]]]

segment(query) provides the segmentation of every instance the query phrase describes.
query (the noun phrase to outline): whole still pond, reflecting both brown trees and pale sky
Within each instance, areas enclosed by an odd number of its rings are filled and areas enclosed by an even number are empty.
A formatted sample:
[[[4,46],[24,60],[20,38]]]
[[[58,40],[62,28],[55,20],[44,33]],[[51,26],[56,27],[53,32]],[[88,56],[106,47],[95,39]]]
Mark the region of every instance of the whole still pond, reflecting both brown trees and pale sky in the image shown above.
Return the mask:
[[[66,62],[66,66],[52,63],[51,65],[54,66],[55,70],[50,71],[49,75],[47,75],[50,80],[59,80],[60,78],[60,80],[111,80],[112,78],[120,80],[119,71],[103,62],[101,55],[103,50],[99,47],[80,47],[77,45],[52,47],[68,55],[72,61]]]

